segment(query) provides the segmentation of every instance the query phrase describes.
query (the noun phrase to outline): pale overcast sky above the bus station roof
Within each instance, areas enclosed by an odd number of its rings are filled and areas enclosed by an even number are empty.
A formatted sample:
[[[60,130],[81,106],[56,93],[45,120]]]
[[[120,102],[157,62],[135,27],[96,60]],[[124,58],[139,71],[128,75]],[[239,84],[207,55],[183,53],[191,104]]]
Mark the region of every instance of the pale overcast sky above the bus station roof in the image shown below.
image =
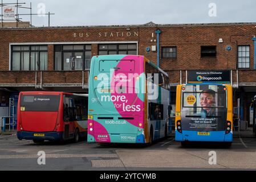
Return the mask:
[[[13,3],[16,0],[3,0]],[[19,0],[30,6],[32,13],[42,13],[45,5],[51,16],[51,26],[97,26],[116,24],[221,23],[256,22],[255,0]],[[214,5],[216,5],[216,11]],[[42,7],[42,6],[41,6]],[[209,16],[209,11],[210,15]],[[19,9],[19,14],[30,13]],[[20,16],[23,21],[29,16]],[[32,16],[34,26],[48,26],[48,16]]]

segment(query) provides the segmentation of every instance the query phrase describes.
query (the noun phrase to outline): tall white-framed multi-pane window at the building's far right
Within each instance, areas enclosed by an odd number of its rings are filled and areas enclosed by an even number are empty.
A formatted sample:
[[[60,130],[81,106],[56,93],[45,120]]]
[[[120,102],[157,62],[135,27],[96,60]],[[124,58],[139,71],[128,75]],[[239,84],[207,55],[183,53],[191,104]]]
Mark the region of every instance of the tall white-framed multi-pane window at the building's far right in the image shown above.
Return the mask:
[[[238,68],[250,68],[250,46],[238,46]]]

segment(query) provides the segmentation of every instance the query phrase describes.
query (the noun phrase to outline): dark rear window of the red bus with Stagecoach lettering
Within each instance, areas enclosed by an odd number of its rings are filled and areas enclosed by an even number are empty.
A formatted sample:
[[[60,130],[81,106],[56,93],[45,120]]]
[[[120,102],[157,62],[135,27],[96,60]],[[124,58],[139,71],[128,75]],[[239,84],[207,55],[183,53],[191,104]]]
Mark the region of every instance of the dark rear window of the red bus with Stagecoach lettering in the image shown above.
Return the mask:
[[[22,95],[21,111],[58,111],[58,95]]]

